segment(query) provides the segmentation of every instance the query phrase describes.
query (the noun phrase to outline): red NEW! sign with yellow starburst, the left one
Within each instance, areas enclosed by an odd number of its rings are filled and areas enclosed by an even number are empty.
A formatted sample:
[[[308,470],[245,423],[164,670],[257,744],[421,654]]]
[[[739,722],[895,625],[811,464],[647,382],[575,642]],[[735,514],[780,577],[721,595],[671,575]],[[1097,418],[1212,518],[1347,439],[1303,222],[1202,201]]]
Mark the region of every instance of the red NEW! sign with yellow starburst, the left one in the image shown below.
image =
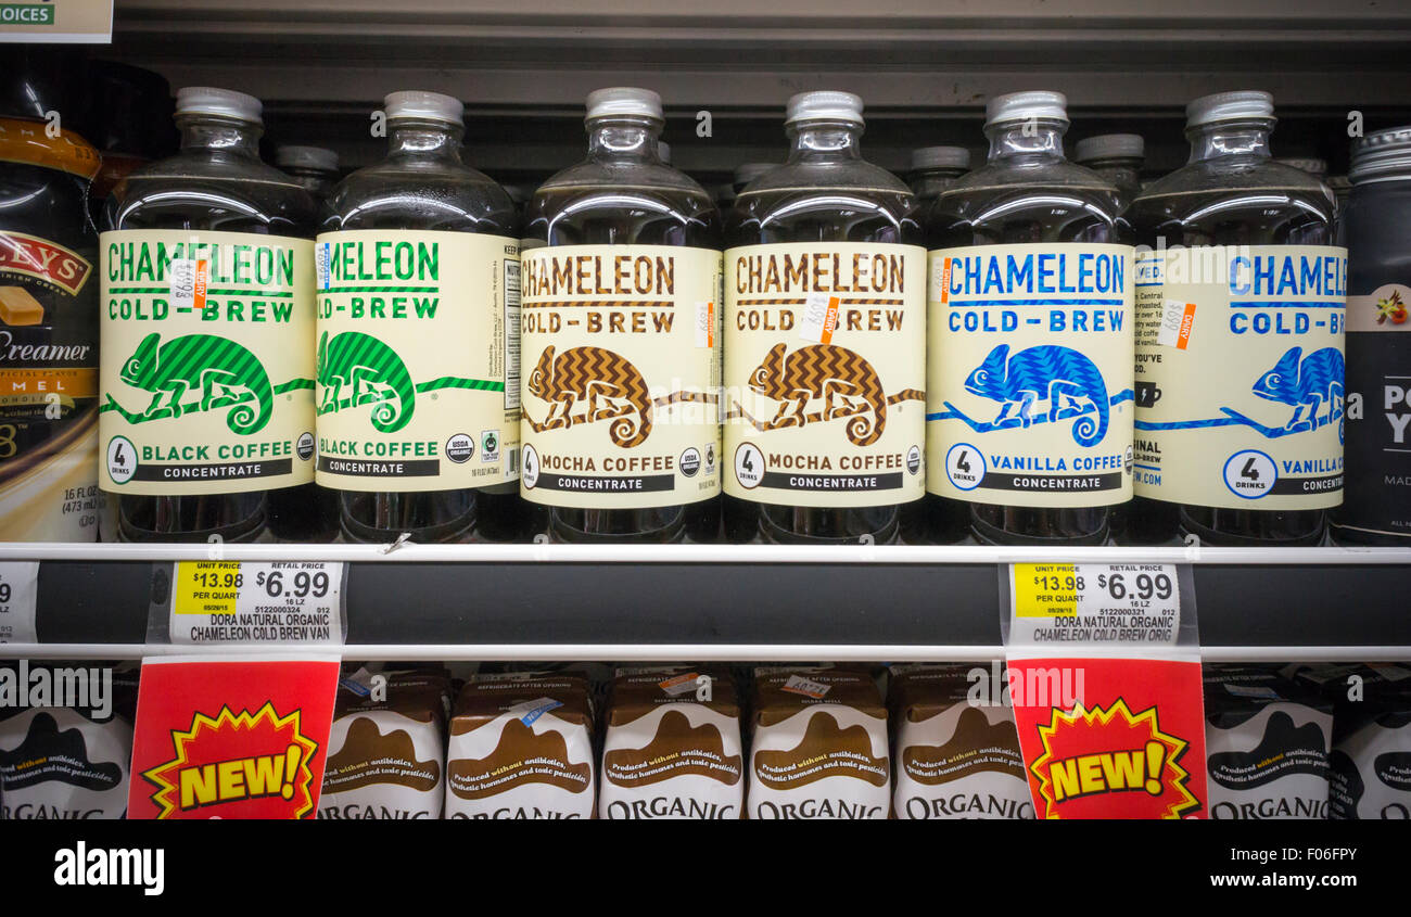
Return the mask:
[[[143,663],[128,818],[308,818],[337,659]]]

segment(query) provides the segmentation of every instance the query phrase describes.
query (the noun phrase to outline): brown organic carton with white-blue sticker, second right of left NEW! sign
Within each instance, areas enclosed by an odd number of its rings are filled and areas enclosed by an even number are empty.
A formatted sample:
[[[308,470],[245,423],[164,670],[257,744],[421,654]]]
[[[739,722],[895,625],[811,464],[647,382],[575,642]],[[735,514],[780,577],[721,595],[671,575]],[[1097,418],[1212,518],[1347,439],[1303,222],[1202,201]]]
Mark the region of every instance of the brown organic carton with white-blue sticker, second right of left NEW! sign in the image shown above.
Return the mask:
[[[470,679],[446,756],[449,818],[591,818],[588,683],[567,673]]]

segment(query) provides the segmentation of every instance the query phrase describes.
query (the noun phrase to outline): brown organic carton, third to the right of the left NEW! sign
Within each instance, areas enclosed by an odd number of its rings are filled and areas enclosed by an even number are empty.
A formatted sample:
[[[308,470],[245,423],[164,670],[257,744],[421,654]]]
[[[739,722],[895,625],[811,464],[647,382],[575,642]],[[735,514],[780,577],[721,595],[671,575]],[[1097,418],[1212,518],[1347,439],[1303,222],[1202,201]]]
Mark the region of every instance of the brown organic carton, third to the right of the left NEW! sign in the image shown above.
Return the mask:
[[[602,743],[601,818],[741,818],[739,704],[714,669],[624,670]]]

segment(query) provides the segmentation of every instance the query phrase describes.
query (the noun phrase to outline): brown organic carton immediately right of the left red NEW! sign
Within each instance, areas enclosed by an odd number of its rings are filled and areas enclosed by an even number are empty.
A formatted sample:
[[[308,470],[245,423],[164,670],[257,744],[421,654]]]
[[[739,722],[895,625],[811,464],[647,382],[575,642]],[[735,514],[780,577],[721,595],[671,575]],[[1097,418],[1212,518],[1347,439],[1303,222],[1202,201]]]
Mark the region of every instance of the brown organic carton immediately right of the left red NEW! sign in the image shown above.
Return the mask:
[[[358,672],[339,684],[319,818],[440,818],[450,684]]]

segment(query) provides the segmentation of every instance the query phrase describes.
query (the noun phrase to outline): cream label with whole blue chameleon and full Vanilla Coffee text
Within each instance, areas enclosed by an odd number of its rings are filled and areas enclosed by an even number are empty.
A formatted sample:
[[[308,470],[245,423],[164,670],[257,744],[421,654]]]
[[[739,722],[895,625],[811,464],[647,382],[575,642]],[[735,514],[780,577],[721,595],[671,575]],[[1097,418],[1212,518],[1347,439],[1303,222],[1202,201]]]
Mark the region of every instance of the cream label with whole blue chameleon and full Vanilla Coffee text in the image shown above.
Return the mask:
[[[1132,247],[930,253],[927,490],[1006,506],[1132,498]]]

